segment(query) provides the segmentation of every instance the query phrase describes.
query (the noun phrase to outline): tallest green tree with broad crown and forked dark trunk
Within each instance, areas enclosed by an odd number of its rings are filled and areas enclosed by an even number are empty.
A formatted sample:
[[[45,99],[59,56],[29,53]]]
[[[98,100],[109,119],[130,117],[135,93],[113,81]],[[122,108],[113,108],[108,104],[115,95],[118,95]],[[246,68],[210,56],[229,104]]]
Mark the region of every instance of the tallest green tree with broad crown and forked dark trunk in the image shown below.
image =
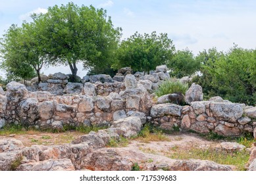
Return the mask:
[[[45,49],[53,65],[64,64],[76,76],[76,64],[101,72],[111,66],[120,39],[120,28],[113,28],[107,11],[74,3],[49,7],[46,14],[35,16],[47,32]]]

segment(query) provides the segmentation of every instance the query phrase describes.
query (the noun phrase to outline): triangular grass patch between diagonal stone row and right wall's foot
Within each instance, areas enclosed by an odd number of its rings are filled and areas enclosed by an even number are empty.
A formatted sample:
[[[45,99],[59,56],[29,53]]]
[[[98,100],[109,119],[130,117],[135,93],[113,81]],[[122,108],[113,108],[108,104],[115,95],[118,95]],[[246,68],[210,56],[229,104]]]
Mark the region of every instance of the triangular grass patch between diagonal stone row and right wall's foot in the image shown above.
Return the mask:
[[[136,140],[143,143],[149,143],[150,141],[170,141],[161,129],[152,127],[149,124],[145,124],[143,129],[138,133]]]

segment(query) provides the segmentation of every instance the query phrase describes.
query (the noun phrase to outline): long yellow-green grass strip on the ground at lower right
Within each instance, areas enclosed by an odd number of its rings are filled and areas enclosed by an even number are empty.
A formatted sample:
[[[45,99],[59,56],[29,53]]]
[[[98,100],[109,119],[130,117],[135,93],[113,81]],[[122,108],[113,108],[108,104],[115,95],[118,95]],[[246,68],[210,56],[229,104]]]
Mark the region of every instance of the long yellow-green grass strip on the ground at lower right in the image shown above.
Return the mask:
[[[172,150],[173,151],[173,150]],[[246,150],[228,153],[213,148],[210,149],[187,149],[174,150],[167,155],[172,159],[188,160],[190,158],[200,160],[212,160],[218,164],[234,165],[237,170],[245,170],[245,164],[249,160],[249,153]]]

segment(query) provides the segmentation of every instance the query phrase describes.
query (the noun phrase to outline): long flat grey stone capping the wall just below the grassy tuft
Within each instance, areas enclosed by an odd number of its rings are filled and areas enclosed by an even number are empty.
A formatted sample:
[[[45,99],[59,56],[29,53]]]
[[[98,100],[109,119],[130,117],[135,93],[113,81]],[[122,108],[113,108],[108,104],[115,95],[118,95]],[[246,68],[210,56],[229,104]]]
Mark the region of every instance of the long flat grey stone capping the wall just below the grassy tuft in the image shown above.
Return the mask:
[[[152,106],[150,114],[152,117],[161,117],[165,115],[180,116],[182,106],[177,104],[157,104]]]

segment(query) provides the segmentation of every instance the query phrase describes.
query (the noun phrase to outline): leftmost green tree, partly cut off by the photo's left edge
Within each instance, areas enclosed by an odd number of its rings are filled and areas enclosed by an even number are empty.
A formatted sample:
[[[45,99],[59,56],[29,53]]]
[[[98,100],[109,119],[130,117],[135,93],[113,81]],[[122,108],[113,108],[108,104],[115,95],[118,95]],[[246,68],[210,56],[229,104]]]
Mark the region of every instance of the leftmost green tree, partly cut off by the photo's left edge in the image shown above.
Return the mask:
[[[23,35],[23,28],[13,24],[1,39],[1,68],[9,80],[25,80],[35,76],[34,68],[27,62]]]

